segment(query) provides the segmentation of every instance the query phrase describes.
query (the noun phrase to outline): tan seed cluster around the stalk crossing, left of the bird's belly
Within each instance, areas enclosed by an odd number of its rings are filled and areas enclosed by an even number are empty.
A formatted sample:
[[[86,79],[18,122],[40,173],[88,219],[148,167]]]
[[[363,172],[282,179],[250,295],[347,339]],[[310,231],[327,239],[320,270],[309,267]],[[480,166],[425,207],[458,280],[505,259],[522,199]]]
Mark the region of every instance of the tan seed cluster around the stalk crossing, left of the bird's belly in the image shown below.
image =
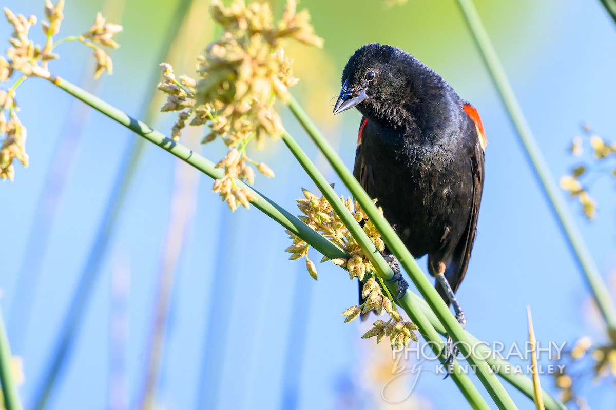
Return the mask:
[[[368,261],[367,256],[362,253],[361,248],[357,245],[357,242],[355,242],[355,239],[352,237],[346,226],[344,226],[344,223],[342,223],[339,216],[334,213],[330,203],[327,202],[325,197],[317,197],[317,195],[307,189],[302,188],[302,191],[304,192],[304,198],[296,199],[299,210],[301,210],[304,214],[299,216],[299,219],[327,239],[331,240],[331,242],[344,249],[346,253],[351,256],[351,258],[332,259],[331,262],[348,270],[349,278],[352,279],[357,277],[363,282],[367,277],[368,272],[372,272],[374,270],[372,264]],[[368,238],[370,238],[370,241],[375,244],[379,251],[383,251],[385,244],[383,239],[381,239],[381,234],[379,234],[374,224],[371,223],[365,213],[363,213],[359,203],[353,203],[351,198],[344,200],[344,197],[341,197],[340,200],[344,203],[347,209],[351,211],[355,217],[355,221],[363,224],[363,231],[366,232]],[[383,215],[383,210],[381,210],[381,208],[379,208],[379,212]],[[291,253],[291,257],[289,259],[294,260],[302,257],[307,259],[307,243],[301,238],[296,237],[296,235],[292,234],[290,231],[286,231],[286,233],[288,233],[290,235],[290,239],[293,240],[293,245],[289,246],[285,250],[286,252]],[[328,260],[328,258],[324,257],[321,262],[326,260]],[[314,269],[314,264],[310,265],[309,272],[311,269],[314,271],[314,274],[311,273],[311,275],[316,279],[317,274]]]

